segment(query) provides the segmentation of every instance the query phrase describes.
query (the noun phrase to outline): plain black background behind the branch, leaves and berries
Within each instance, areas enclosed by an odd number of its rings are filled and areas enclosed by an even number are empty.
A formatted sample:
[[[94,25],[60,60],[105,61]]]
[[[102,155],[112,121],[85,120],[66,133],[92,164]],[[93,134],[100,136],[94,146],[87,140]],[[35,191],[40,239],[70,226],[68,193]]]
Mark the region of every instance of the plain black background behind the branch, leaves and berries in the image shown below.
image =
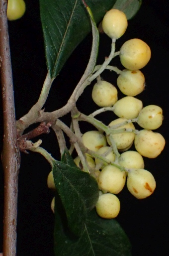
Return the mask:
[[[11,59],[14,82],[16,119],[28,112],[38,100],[46,76],[46,63],[43,36],[40,23],[38,0],[26,2],[26,13],[16,21],[8,22],[11,46]],[[141,9],[129,21],[126,33],[117,41],[116,50],[128,39],[140,38],[151,48],[152,57],[142,69],[146,78],[146,90],[137,98],[143,105],[159,105],[164,110],[164,123],[157,131],[166,139],[166,147],[155,159],[145,159],[145,169],[156,179],[154,194],[144,200],[137,200],[126,188],[118,195],[121,211],[117,218],[128,235],[133,256],[169,255],[169,3],[168,0],[143,0]],[[102,63],[110,51],[110,39],[100,35],[98,63]],[[77,47],[56,78],[46,111],[53,111],[66,104],[73,89],[81,78],[87,64],[91,46],[91,34]],[[122,66],[115,58],[115,64]],[[114,62],[113,62],[114,65]],[[116,83],[114,73],[104,72],[102,78]],[[119,94],[119,97],[122,95]],[[85,114],[97,109],[91,100],[91,87],[88,87],[78,102],[78,108]],[[100,115],[105,124],[112,121],[112,115]],[[70,117],[63,121],[69,123]],[[0,112],[0,122],[2,115]],[[82,132],[92,129],[83,126]],[[59,159],[55,135],[41,136],[42,146]],[[2,148],[2,128],[0,129],[0,150]],[[21,153],[18,194],[17,256],[53,256],[53,222],[50,209],[53,193],[47,188],[50,165],[37,153]],[[2,247],[2,171],[0,172],[0,249]]]

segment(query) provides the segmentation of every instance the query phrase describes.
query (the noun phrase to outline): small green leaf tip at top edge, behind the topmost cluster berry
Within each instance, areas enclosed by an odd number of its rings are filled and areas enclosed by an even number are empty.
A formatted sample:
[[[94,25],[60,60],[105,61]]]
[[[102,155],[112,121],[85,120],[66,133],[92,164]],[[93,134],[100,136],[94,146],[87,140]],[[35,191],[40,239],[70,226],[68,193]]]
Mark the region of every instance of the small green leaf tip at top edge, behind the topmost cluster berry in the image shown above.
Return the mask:
[[[127,19],[133,18],[140,9],[142,0],[116,0],[113,8],[123,11]]]

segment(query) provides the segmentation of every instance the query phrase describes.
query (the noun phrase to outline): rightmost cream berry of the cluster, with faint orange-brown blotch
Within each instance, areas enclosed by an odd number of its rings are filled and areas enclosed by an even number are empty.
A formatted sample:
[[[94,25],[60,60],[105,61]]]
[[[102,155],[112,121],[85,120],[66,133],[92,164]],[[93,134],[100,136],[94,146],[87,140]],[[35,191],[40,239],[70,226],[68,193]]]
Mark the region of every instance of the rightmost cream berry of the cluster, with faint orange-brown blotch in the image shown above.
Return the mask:
[[[162,134],[147,129],[140,130],[134,140],[136,150],[148,158],[157,157],[164,149],[165,143]]]

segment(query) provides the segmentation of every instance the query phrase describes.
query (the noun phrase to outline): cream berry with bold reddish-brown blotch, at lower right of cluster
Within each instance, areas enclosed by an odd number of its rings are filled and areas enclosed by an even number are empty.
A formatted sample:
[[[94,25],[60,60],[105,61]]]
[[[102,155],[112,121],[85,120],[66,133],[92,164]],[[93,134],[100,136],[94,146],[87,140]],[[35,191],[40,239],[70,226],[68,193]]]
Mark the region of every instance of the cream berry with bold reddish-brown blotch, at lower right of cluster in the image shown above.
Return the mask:
[[[127,188],[138,199],[143,199],[153,194],[156,181],[151,172],[144,169],[133,169],[128,173]]]

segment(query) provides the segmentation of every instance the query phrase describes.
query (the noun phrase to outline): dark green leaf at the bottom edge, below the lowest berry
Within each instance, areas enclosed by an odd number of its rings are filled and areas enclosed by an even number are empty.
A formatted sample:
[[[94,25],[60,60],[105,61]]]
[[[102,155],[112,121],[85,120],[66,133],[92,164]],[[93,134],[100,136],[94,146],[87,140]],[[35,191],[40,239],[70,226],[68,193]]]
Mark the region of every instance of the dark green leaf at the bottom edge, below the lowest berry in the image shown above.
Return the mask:
[[[55,208],[56,256],[131,256],[130,242],[116,220],[102,219],[93,209],[81,237],[76,238],[66,228],[61,209],[58,205]]]

